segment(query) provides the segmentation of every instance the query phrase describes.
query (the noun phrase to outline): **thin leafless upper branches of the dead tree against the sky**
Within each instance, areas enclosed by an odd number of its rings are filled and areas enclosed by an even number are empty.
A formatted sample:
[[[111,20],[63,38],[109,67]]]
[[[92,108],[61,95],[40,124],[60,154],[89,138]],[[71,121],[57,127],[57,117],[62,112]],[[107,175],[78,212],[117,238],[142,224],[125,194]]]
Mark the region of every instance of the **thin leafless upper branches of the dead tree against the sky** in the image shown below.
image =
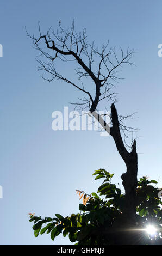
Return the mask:
[[[39,27],[39,36],[36,38],[34,35],[27,35],[33,40],[34,48],[40,52],[39,57],[48,59],[48,62],[45,60],[37,59],[39,66],[38,70],[44,70],[49,75],[50,78],[45,78],[42,75],[42,78],[51,82],[55,78],[58,80],[63,80],[68,84],[71,84],[73,87],[80,90],[80,92],[88,95],[87,98],[79,99],[81,102],[73,103],[78,106],[80,109],[89,108],[91,112],[97,109],[98,104],[101,101],[112,101],[116,102],[117,97],[116,93],[112,92],[112,88],[115,87],[115,84],[119,82],[121,79],[118,76],[119,68],[124,64],[134,65],[130,62],[134,50],[129,50],[127,48],[126,52],[120,48],[120,57],[117,54],[116,48],[109,47],[109,41],[107,44],[103,44],[101,51],[98,50],[98,47],[95,47],[94,42],[89,44],[87,41],[86,30],[83,29],[82,32],[74,31],[74,20],[72,22],[71,28],[63,29],[59,22],[60,31],[54,32],[52,31],[51,36],[51,28],[48,29],[47,33],[42,35],[40,29],[40,22],[38,23]],[[40,45],[45,41],[47,50],[44,50],[45,47],[41,47]],[[51,53],[51,52],[54,52]],[[76,75],[78,76],[79,81],[81,82],[81,86],[79,86],[76,82],[72,82],[69,78],[64,77],[64,75],[60,74],[56,69],[55,65],[57,60],[61,60],[63,62],[77,62],[79,65],[74,70],[76,71]],[[96,65],[93,65],[94,60]],[[83,86],[84,78],[90,79],[95,87],[90,89],[85,89]],[[92,96],[91,90],[95,89],[95,95]],[[123,119],[131,118],[130,116],[119,116],[119,129],[123,131],[124,137],[127,137],[126,132],[130,132],[131,127],[125,126],[122,121]],[[113,130],[111,131],[111,135],[113,135]]]

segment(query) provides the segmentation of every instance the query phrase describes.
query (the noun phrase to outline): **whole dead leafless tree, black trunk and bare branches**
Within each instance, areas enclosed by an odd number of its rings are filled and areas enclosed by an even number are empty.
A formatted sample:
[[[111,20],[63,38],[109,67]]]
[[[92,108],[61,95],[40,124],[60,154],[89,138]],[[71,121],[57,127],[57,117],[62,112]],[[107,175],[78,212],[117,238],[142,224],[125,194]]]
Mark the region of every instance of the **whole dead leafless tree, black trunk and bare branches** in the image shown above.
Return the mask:
[[[132,141],[131,149],[127,150],[126,143],[121,136],[121,131],[132,131],[130,127],[122,124],[123,119],[132,118],[132,115],[118,115],[115,108],[116,93],[113,92],[115,83],[122,78],[119,76],[119,68],[123,65],[133,65],[130,62],[134,50],[127,48],[126,52],[103,44],[101,50],[95,47],[94,42],[89,44],[87,41],[86,31],[76,32],[74,30],[74,21],[70,29],[64,29],[59,21],[59,31],[48,29],[46,34],[41,33],[39,23],[39,36],[27,35],[33,39],[34,48],[38,50],[39,55],[36,60],[39,63],[38,70],[46,71],[48,78],[42,76],[45,80],[52,82],[55,78],[63,80],[74,88],[78,89],[84,97],[79,97],[76,105],[80,109],[89,109],[100,124],[113,137],[117,150],[126,163],[127,171],[121,175],[122,184],[126,193],[126,207],[124,215],[134,218],[136,215],[136,186],[138,172],[138,155],[136,153],[136,141]],[[75,72],[78,76],[78,83],[68,77],[64,77],[63,70],[60,72],[56,69],[57,61],[74,62],[76,65]],[[87,80],[86,80],[87,79]],[[88,88],[85,86],[91,80],[94,86]],[[88,89],[87,89],[88,88]],[[95,94],[92,90],[95,90]],[[99,103],[102,101],[111,101],[111,127],[105,123],[103,118],[96,112]],[[103,125],[104,124],[104,125]]]

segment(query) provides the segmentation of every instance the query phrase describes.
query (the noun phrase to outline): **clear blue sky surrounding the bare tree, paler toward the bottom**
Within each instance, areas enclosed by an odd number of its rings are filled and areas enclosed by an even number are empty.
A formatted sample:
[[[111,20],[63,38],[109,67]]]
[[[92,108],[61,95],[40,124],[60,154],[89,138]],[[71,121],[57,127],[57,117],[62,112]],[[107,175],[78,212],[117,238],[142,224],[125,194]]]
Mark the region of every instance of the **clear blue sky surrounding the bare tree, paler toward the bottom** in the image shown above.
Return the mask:
[[[1,245],[68,245],[58,236],[53,242],[46,234],[34,237],[28,212],[35,215],[67,216],[78,211],[75,190],[95,192],[99,181],[92,173],[105,168],[120,182],[126,171],[113,138],[95,131],[53,131],[52,112],[63,111],[79,92],[61,83],[43,81],[37,72],[36,52],[27,37],[38,33],[38,21],[45,32],[50,26],[86,27],[88,40],[96,45],[134,48],[133,62],[121,75],[117,87],[119,114],[137,112],[129,125],[138,127],[138,177],[161,179],[161,0],[103,1],[4,1],[0,7],[0,118]],[[66,68],[68,73],[68,66]],[[64,91],[63,91],[64,89]],[[72,106],[70,106],[72,109]],[[107,105],[108,110],[110,105]],[[121,185],[122,186],[122,185]]]

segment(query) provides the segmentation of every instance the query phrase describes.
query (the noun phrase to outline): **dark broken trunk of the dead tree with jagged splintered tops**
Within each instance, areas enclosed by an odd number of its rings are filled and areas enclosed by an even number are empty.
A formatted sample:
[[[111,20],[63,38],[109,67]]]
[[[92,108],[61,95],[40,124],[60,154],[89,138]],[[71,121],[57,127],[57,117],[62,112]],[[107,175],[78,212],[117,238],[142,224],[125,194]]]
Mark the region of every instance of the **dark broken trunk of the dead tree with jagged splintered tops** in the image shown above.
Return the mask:
[[[110,128],[108,124],[102,117],[95,111],[92,113],[94,117],[99,121],[99,123],[104,127],[104,129],[110,133],[113,137],[117,150],[121,155],[122,159],[126,163],[127,172],[121,175],[122,184],[126,192],[126,204],[124,208],[123,215],[126,216],[128,220],[133,220],[136,216],[136,186],[137,186],[137,173],[138,173],[138,156],[136,153],[136,141],[134,140],[132,144],[132,151],[128,152],[124,146],[121,133],[120,133],[120,123],[118,120],[117,111],[114,103],[111,105],[111,119],[112,127]]]

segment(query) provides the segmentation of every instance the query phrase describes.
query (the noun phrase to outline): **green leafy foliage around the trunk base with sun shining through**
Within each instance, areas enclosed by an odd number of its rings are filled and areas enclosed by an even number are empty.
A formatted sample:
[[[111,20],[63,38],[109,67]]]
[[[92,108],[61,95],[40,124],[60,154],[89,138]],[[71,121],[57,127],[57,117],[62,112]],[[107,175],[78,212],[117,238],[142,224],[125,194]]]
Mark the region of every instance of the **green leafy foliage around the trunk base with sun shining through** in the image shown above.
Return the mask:
[[[35,223],[35,237],[46,232],[54,240],[63,233],[71,242],[78,241],[76,245],[162,245],[161,200],[158,188],[150,185],[157,181],[149,181],[145,176],[138,181],[138,202],[133,223],[131,218],[126,222],[123,215],[126,196],[111,183],[114,174],[99,169],[93,175],[97,175],[95,180],[104,179],[97,191],[99,195],[77,190],[79,199],[83,199],[78,214],[66,217],[55,214],[55,217],[45,218],[30,214],[29,221]],[[153,233],[147,233],[149,225],[154,227]]]

